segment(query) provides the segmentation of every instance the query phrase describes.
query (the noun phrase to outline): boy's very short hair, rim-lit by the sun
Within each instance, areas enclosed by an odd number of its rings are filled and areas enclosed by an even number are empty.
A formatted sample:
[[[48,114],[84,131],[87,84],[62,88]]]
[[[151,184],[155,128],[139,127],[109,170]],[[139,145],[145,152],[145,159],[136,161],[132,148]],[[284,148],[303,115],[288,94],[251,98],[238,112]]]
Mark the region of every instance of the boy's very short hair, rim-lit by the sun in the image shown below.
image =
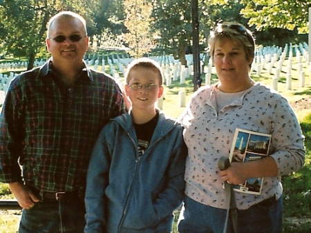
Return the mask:
[[[142,68],[151,68],[153,70],[158,71],[159,75],[160,75],[160,79],[159,79],[159,85],[163,84],[163,71],[162,68],[160,66],[160,64],[153,60],[153,59],[149,59],[147,57],[142,57],[139,59],[135,59],[133,60],[131,63],[129,63],[126,72],[125,72],[125,81],[126,84],[129,84],[129,73],[131,72],[131,70],[133,68],[138,68],[138,67],[142,67]]]

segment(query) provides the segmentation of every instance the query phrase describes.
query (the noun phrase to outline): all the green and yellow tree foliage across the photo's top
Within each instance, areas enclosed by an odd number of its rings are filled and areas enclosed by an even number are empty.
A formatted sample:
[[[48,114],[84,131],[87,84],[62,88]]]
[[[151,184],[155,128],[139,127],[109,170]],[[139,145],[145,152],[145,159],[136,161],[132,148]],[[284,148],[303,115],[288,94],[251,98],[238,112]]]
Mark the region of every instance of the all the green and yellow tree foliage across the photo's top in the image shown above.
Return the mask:
[[[198,3],[200,43],[204,43],[211,28],[220,20],[248,23],[261,44],[295,43],[297,32],[308,32],[310,0]],[[91,43],[94,34],[102,35],[110,28],[113,34],[126,35],[135,56],[146,53],[156,38],[158,45],[169,48],[176,59],[186,63],[186,49],[192,44],[191,1],[182,0],[0,0],[1,54],[6,51],[15,57],[28,57],[28,68],[32,68],[38,54],[48,56],[44,43],[46,23],[62,10],[73,10],[86,18]],[[156,37],[151,35],[151,30]],[[300,36],[305,40],[305,34]],[[143,52],[138,52],[142,49]]]

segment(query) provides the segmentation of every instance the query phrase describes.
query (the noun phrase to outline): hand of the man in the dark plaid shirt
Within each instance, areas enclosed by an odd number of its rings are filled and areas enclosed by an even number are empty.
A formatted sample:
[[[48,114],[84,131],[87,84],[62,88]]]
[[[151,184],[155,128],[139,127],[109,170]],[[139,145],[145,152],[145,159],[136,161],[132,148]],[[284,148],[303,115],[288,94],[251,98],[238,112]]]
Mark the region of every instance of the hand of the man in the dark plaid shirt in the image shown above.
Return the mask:
[[[9,185],[10,190],[23,209],[27,210],[35,205],[36,202],[39,202],[39,198],[35,196],[26,185],[20,182],[9,183]]]

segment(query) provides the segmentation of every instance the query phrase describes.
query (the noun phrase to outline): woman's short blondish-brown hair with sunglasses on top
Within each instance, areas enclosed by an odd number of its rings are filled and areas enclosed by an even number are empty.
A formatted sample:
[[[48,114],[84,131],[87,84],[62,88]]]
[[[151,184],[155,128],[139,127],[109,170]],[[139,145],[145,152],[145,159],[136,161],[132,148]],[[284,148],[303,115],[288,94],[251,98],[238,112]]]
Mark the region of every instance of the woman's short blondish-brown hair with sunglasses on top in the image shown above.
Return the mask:
[[[209,53],[214,57],[216,41],[226,40],[239,41],[245,50],[247,61],[254,60],[255,57],[255,38],[251,31],[241,23],[223,22],[218,23],[216,28],[209,34],[208,44]]]

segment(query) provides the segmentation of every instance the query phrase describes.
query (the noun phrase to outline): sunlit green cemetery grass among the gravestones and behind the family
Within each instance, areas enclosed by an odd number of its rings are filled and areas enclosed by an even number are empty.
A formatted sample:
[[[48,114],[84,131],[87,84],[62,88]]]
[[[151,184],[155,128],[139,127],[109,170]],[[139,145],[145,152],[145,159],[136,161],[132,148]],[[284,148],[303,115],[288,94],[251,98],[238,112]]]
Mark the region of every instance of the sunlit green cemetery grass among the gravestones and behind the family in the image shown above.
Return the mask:
[[[295,61],[293,61],[295,64]],[[306,63],[303,65],[307,69]],[[97,68],[101,70],[99,66]],[[109,73],[109,67],[106,67],[106,72]],[[285,70],[285,69],[283,69]],[[1,70],[0,70],[1,72]],[[121,74],[120,74],[121,75]],[[252,78],[255,81],[260,81],[265,85],[272,86],[272,78],[274,75],[267,74],[263,70],[260,77],[252,72]],[[204,77],[203,77],[204,79]],[[215,83],[217,77],[212,75],[211,83]],[[205,80],[203,80],[203,84]],[[292,90],[285,88],[285,73],[281,73],[278,90],[290,103],[308,97],[311,94],[311,74],[305,72],[305,87],[299,87],[299,75],[297,70],[292,70]],[[188,103],[191,94],[193,93],[193,85],[191,78],[186,80],[185,84],[180,84],[179,81],[173,81],[171,87],[164,88],[163,110],[171,117],[178,117],[185,107],[178,106],[178,92],[182,90],[186,93],[186,104]],[[283,233],[307,233],[311,229],[311,110],[303,110],[296,112],[301,129],[305,135],[305,148],[307,152],[307,160],[305,166],[288,176],[283,176],[283,207],[284,221]],[[0,198],[12,199],[8,185],[0,183]],[[3,233],[17,232],[17,227],[20,218],[20,211],[10,210],[3,212],[0,210],[0,229]],[[176,211],[176,221],[173,227],[173,233],[176,233],[176,223],[178,219],[178,211]],[[298,219],[294,221],[294,219]],[[309,219],[310,221],[306,221]]]

